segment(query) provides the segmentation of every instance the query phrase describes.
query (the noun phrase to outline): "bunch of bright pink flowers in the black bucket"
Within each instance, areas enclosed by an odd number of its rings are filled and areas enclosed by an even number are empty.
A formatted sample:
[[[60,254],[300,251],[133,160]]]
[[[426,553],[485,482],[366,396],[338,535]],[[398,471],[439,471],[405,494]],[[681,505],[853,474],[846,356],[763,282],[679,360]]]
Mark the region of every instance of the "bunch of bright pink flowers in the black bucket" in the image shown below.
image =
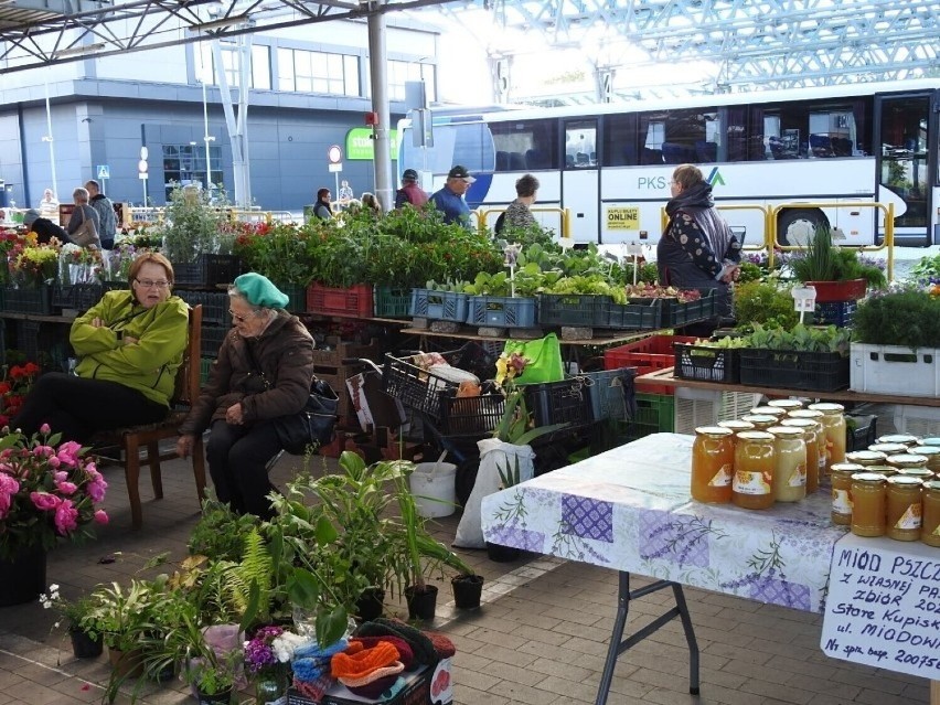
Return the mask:
[[[108,483],[75,441],[60,444],[43,425],[26,438],[9,431],[0,438],[0,558],[41,546],[49,551],[60,537],[81,541],[92,522],[107,524],[96,509]]]

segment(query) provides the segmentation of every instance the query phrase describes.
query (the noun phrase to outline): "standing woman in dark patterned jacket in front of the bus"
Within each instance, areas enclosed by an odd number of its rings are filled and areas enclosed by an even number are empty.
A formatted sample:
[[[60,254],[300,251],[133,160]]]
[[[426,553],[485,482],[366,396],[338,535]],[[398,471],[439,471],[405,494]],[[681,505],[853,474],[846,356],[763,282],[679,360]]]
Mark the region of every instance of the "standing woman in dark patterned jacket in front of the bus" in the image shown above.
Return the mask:
[[[729,316],[729,285],[738,277],[740,243],[715,209],[712,186],[697,167],[676,167],[670,189],[670,220],[656,245],[660,284],[703,295],[714,289],[717,316]]]

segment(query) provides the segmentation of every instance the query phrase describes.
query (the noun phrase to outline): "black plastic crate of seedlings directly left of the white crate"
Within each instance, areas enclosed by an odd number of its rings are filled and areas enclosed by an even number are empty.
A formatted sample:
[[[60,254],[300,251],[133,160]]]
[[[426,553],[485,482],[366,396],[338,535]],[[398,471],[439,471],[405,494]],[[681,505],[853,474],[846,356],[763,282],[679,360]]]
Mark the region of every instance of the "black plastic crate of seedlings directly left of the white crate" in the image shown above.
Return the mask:
[[[848,387],[848,357],[838,353],[740,349],[741,384],[807,392]]]

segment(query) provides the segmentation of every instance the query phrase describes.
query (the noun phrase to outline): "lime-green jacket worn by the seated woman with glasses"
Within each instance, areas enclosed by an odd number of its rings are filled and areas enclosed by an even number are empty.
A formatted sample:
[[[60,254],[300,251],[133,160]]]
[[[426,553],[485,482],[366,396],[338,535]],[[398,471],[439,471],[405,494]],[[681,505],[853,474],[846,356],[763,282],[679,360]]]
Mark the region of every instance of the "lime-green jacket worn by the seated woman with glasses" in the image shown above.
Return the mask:
[[[104,325],[95,328],[96,318]],[[186,349],[189,307],[180,297],[147,309],[128,290],[108,291],[72,323],[79,377],[118,382],[169,408]],[[138,342],[125,344],[125,337]]]

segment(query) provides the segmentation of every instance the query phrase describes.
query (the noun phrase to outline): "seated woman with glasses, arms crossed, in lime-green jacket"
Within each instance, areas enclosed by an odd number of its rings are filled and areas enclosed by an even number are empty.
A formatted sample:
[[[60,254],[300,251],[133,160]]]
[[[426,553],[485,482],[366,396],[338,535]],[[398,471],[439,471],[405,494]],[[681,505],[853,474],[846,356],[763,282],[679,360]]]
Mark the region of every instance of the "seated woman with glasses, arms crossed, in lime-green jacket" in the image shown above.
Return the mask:
[[[173,267],[157,253],[133,260],[130,290],[108,291],[75,319],[70,340],[75,374],[36,380],[10,421],[31,435],[43,424],[63,439],[87,441],[96,431],[165,418],[186,348],[189,311],[172,296]]]

